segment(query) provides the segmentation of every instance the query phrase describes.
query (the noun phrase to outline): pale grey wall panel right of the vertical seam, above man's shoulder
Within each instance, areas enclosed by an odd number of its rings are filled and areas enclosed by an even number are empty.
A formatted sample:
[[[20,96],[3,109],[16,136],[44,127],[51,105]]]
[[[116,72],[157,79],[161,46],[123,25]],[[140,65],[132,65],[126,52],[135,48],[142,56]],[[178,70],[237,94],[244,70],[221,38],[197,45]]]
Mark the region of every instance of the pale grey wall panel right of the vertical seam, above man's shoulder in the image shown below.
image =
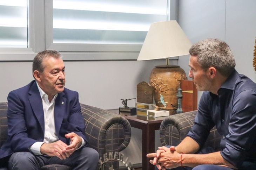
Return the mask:
[[[236,69],[254,82],[252,67],[256,37],[256,1],[227,0],[225,40],[236,59]]]

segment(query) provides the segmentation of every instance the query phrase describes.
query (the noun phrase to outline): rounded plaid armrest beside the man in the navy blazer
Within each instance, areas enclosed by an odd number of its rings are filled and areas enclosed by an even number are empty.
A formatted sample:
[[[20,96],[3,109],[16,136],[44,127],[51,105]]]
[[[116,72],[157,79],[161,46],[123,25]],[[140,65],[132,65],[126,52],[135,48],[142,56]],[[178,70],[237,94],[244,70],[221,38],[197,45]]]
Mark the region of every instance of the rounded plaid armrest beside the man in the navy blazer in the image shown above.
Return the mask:
[[[89,147],[96,149],[100,157],[105,153],[120,152],[128,146],[132,133],[128,120],[100,108],[80,105]]]

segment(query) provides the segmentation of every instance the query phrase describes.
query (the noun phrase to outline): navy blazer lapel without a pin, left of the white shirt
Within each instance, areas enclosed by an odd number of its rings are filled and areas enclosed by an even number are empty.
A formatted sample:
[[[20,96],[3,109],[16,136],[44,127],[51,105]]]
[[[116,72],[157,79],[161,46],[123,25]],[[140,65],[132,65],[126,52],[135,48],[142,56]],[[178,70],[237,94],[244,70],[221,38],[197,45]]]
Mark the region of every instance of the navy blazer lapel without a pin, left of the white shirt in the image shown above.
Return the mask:
[[[28,100],[30,102],[30,105],[32,107],[32,110],[38,119],[40,126],[45,131],[45,118],[43,114],[43,105],[42,105],[42,99],[38,90],[38,87],[36,85],[36,82],[34,82],[29,89],[30,96],[28,97]]]

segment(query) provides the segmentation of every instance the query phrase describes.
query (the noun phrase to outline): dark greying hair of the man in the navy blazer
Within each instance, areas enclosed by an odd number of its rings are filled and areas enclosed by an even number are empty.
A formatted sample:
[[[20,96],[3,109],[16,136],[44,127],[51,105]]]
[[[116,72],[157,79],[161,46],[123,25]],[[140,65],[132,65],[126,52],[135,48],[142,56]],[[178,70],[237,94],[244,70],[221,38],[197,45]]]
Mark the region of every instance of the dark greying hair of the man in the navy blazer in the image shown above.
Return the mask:
[[[59,51],[55,51],[55,50],[41,51],[33,59],[32,71],[34,72],[35,70],[38,70],[39,72],[43,72],[43,70],[45,69],[45,66],[43,66],[42,62],[47,57],[62,58]]]

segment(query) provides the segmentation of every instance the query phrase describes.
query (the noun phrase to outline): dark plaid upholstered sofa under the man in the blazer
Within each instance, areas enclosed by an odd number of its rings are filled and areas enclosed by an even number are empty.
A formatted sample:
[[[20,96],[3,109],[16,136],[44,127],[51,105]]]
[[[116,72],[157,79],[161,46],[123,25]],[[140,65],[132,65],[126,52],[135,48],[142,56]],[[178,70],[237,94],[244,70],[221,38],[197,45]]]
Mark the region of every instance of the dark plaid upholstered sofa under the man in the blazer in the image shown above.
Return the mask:
[[[7,102],[0,102],[0,147],[7,139]],[[89,147],[96,149],[101,158],[105,153],[120,152],[125,149],[131,137],[130,123],[118,114],[106,110],[81,104],[81,111],[85,120],[85,134]],[[118,169],[119,162],[114,160],[108,162],[114,169]],[[100,166],[100,165],[99,165]],[[0,165],[0,169],[7,169]],[[43,170],[69,169],[64,165],[48,165],[41,167]]]

